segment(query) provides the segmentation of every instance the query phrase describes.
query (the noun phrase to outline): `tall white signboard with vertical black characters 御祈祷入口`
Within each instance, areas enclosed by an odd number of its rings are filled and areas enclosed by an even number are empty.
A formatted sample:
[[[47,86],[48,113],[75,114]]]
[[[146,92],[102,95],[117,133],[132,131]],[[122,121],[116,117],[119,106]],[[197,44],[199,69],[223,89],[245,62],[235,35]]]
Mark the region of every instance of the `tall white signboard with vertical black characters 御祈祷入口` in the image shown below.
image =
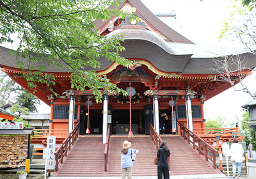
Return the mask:
[[[49,158],[47,159],[47,169],[55,169],[55,147],[56,136],[47,136],[47,148],[49,149]]]

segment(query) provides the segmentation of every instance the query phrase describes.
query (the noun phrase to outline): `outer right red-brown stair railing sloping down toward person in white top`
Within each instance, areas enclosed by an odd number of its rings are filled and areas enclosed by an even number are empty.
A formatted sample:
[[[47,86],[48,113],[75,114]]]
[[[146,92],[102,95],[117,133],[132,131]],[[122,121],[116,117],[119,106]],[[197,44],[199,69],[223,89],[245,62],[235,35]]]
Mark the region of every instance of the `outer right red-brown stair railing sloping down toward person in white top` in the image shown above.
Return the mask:
[[[189,130],[189,128],[185,127],[184,124],[182,125],[179,121],[178,125],[180,126],[180,136],[183,136],[184,140],[188,141],[188,144],[192,144],[193,149],[197,149],[199,155],[204,155],[205,161],[210,160],[212,162],[213,168],[216,169],[216,153],[218,153],[218,151],[210,144],[205,142],[204,139],[196,135],[195,132],[192,132]],[[198,143],[198,145],[196,145],[196,143]],[[202,148],[204,148],[204,150],[202,150]],[[208,155],[208,152],[211,153],[212,157]]]

